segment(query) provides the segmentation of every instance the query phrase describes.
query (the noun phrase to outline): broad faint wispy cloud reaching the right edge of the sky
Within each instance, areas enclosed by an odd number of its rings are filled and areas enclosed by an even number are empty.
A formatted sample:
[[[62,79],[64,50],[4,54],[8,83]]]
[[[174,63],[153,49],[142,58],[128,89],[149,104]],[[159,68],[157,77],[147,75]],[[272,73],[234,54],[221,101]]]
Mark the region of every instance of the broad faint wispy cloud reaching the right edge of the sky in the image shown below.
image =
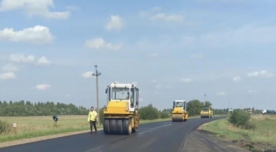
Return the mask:
[[[224,44],[267,44],[275,43],[276,28],[272,26],[254,27],[246,25],[238,29],[231,29],[223,33],[212,32],[202,34],[201,40],[208,46]]]

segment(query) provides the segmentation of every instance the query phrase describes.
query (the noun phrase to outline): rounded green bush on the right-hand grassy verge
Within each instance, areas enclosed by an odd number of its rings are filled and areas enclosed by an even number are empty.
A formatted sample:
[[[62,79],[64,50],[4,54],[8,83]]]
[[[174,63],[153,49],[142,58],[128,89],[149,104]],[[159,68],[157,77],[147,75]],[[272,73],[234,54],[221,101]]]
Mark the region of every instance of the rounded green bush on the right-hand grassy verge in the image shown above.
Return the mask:
[[[229,118],[229,122],[236,127],[243,129],[254,129],[255,124],[249,121],[250,115],[244,110],[234,110]]]

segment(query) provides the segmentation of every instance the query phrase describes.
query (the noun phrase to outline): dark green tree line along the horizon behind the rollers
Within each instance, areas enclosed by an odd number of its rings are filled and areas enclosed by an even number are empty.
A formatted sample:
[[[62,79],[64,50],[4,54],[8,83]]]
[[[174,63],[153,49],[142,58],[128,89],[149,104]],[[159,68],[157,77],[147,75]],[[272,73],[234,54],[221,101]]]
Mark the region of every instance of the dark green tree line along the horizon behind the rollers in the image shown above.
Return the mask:
[[[187,102],[187,112],[189,116],[200,114],[204,102],[199,100],[191,100]],[[209,101],[205,102],[206,106],[212,106]],[[172,104],[173,106],[173,104]],[[106,106],[100,109],[100,120],[103,117],[103,111]],[[64,104],[57,102],[30,102],[30,101],[17,101],[6,102],[0,101],[0,116],[53,116],[53,115],[87,115],[90,108],[83,106],[76,106],[74,104]],[[212,109],[214,114],[227,114],[226,109]],[[247,110],[247,109],[244,109]],[[160,118],[169,118],[173,111],[173,107],[158,110],[152,104],[139,108],[139,115],[143,120],[152,120]],[[252,108],[253,114],[261,113],[262,110],[255,110]]]

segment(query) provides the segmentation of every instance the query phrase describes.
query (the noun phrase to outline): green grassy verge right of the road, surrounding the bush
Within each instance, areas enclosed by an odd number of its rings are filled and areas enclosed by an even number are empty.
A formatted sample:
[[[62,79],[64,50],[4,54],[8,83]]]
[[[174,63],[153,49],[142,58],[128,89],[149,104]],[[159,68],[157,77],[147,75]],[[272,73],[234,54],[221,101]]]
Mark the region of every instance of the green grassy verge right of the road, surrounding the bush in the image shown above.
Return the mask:
[[[232,141],[246,147],[251,145],[255,149],[276,148],[276,116],[275,115],[252,115],[250,121],[256,125],[253,130],[244,130],[232,126],[227,119],[209,122],[203,126],[204,130],[217,134],[225,140]]]

